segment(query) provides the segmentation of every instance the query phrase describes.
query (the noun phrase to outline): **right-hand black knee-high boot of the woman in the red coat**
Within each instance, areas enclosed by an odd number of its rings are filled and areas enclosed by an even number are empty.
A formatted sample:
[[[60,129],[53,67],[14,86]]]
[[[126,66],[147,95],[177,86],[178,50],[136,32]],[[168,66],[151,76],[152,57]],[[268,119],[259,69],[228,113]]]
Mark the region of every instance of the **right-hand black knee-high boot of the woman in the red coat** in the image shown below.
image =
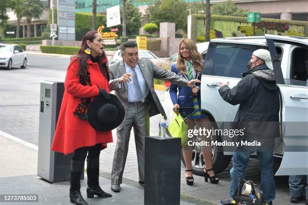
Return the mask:
[[[99,166],[100,166],[99,157],[95,158],[87,157],[88,198],[93,198],[94,195],[97,195],[98,197],[101,198],[112,197],[110,193],[106,193],[105,191],[103,191],[99,185],[99,170],[100,170]]]

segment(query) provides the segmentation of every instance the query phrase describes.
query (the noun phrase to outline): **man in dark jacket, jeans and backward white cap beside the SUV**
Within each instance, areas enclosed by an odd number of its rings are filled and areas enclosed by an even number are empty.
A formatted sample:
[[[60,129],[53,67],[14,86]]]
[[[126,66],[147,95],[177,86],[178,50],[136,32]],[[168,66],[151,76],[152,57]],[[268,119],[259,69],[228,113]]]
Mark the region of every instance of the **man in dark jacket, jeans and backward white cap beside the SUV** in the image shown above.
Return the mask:
[[[250,155],[257,151],[261,168],[261,190],[266,204],[275,198],[273,171],[273,147],[279,135],[279,88],[275,81],[270,53],[259,49],[254,51],[248,62],[248,71],[243,79],[230,89],[228,82],[220,82],[219,93],[231,105],[239,105],[234,129],[244,129],[244,136],[238,141],[260,142],[261,146],[242,146],[233,155],[233,168],[230,170],[230,196],[233,198],[238,188],[239,178],[245,178],[244,171]],[[220,204],[234,202],[220,201]]]

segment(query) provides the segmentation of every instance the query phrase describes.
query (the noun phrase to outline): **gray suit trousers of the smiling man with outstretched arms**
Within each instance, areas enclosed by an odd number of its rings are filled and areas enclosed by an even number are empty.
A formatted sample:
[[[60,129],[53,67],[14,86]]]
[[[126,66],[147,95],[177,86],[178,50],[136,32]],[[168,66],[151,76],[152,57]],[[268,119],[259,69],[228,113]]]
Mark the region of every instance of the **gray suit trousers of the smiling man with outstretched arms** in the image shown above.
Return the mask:
[[[114,152],[111,183],[121,184],[131,128],[134,128],[135,145],[138,160],[139,181],[144,181],[144,142],[145,142],[145,114],[147,104],[128,105],[125,125],[117,129],[117,145]]]

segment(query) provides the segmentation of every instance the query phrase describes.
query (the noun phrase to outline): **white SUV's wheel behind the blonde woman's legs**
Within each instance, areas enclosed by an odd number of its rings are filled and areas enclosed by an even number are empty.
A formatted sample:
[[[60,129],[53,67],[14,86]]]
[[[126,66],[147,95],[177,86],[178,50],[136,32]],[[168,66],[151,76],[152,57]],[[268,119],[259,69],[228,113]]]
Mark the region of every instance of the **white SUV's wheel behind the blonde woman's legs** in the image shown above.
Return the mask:
[[[221,139],[214,139],[217,140],[218,142],[221,142]],[[198,136],[193,137],[194,142],[200,142],[201,138]],[[213,168],[215,174],[218,174],[227,168],[231,161],[232,155],[224,155],[222,152],[222,147],[221,146],[214,146],[212,147],[212,163],[213,163]],[[183,151],[182,151],[182,162],[184,166],[185,160],[183,156]],[[201,152],[201,146],[194,146],[193,147],[193,156],[192,156],[192,170],[193,173],[199,176],[204,175],[204,168],[205,168],[205,163],[203,161],[203,155]]]

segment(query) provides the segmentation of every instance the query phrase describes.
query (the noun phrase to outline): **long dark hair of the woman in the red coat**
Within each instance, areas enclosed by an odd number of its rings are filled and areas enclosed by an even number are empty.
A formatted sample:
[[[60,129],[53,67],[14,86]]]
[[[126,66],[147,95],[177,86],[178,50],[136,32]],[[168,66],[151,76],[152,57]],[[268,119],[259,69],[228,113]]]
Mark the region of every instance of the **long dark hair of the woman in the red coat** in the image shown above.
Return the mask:
[[[78,51],[78,54],[75,56],[79,60],[79,70],[77,72],[77,76],[79,75],[82,81],[85,82],[86,75],[87,75],[87,60],[90,58],[90,55],[85,53],[85,50],[88,48],[87,40],[90,42],[93,42],[93,40],[96,38],[96,34],[98,34],[97,31],[89,31],[86,33],[86,35],[83,38],[81,49]],[[109,76],[109,69],[108,69],[108,61],[106,57],[105,51],[103,51],[103,55],[98,56],[99,57],[99,67],[103,75],[107,78],[107,80],[110,80]]]

